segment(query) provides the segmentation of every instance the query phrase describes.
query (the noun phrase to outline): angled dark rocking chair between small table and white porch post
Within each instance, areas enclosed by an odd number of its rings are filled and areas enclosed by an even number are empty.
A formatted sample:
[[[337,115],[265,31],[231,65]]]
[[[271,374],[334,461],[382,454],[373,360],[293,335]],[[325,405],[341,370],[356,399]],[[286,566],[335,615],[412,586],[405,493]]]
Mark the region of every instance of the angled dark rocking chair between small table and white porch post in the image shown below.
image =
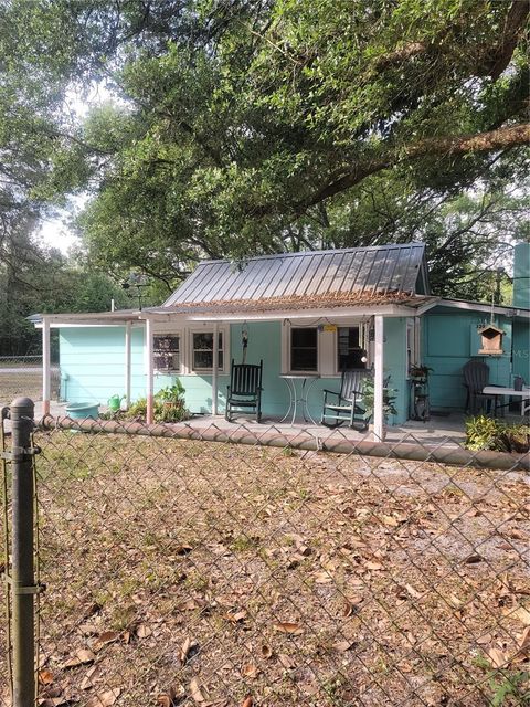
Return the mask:
[[[367,368],[342,371],[340,391],[324,391],[321,424],[327,428],[338,428],[348,422],[349,426],[353,428],[356,422],[360,422],[360,430],[367,430],[368,419],[362,404],[362,381],[371,376],[372,371]],[[328,395],[335,395],[337,401],[328,402]]]

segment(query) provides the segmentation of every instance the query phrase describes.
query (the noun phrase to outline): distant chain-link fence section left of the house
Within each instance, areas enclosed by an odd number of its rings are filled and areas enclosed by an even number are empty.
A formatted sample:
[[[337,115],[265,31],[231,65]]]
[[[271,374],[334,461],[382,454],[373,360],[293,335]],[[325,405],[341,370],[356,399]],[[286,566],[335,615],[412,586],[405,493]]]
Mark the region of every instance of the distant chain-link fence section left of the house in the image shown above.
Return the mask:
[[[51,368],[52,400],[59,400],[61,373]],[[42,356],[0,356],[0,405],[8,405],[17,395],[42,399]]]

